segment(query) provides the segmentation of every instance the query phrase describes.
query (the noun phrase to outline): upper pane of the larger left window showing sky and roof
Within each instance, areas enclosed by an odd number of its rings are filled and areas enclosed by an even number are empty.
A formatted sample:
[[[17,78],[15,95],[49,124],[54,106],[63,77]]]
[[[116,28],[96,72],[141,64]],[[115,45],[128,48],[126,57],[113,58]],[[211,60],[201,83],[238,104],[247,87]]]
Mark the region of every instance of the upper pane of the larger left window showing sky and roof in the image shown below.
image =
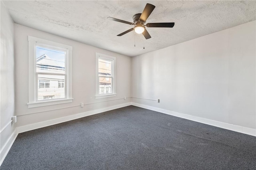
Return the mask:
[[[36,72],[65,73],[66,52],[36,46]]]

